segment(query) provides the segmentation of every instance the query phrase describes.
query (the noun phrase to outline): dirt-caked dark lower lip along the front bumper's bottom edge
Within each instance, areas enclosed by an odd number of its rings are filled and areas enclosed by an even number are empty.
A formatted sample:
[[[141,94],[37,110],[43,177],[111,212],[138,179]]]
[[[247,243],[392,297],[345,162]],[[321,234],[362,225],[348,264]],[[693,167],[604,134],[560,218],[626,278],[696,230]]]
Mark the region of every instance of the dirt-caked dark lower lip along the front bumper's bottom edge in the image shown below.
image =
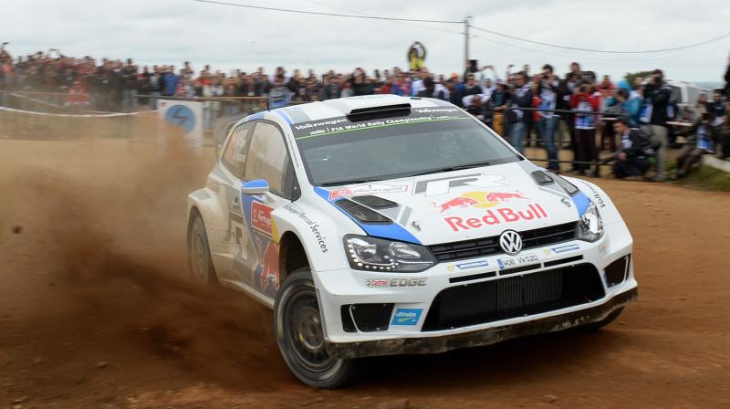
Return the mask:
[[[329,356],[340,359],[401,353],[438,353],[459,348],[489,345],[513,338],[536,335],[598,322],[615,310],[638,298],[638,288],[614,296],[607,302],[546,318],[528,320],[512,325],[474,330],[438,337],[400,338],[391,340],[334,343],[326,341]]]

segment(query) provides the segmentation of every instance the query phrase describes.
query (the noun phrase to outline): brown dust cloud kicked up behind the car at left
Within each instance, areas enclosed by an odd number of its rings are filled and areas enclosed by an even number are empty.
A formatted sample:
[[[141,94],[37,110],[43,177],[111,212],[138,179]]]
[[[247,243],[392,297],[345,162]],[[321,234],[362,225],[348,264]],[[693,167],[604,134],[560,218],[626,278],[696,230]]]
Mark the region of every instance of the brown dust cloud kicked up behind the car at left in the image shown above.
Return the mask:
[[[0,383],[72,396],[79,384],[165,377],[258,391],[294,382],[270,310],[188,278],[187,194],[213,152],[165,133],[163,144],[0,139]]]

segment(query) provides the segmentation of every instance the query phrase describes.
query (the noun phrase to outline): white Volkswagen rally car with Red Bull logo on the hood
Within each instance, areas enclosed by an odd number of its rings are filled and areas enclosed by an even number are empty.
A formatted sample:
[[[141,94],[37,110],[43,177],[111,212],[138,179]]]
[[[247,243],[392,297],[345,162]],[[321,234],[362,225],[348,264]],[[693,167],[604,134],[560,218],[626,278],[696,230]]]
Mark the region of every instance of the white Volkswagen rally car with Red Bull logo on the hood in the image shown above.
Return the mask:
[[[598,329],[638,294],[631,234],[599,187],[441,100],[251,115],[188,208],[193,278],[273,308],[288,367],[322,388],[364,357]]]

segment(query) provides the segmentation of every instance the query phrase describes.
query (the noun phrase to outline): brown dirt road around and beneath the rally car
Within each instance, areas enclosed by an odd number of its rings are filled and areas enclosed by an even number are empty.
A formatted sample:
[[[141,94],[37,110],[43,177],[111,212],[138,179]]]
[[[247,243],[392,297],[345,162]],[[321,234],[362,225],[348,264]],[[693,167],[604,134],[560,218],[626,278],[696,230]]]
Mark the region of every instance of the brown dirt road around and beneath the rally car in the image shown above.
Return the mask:
[[[0,408],[730,407],[728,194],[594,180],[634,237],[640,299],[618,320],[381,359],[319,391],[288,372],[268,309],[181,279],[185,196],[212,161],[0,140]]]

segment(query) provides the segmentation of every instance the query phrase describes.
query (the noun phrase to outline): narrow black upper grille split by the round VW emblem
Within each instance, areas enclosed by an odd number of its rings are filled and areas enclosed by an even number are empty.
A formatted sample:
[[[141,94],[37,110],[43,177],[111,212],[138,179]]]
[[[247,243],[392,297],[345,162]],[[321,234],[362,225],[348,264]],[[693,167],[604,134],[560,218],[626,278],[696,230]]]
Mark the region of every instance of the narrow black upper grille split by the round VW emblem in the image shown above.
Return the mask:
[[[577,226],[576,222],[570,222],[563,225],[551,225],[549,227],[519,232],[520,236],[522,236],[522,250],[574,240],[576,238]],[[499,246],[499,236],[444,243],[428,247],[439,261],[456,261],[504,253]]]

